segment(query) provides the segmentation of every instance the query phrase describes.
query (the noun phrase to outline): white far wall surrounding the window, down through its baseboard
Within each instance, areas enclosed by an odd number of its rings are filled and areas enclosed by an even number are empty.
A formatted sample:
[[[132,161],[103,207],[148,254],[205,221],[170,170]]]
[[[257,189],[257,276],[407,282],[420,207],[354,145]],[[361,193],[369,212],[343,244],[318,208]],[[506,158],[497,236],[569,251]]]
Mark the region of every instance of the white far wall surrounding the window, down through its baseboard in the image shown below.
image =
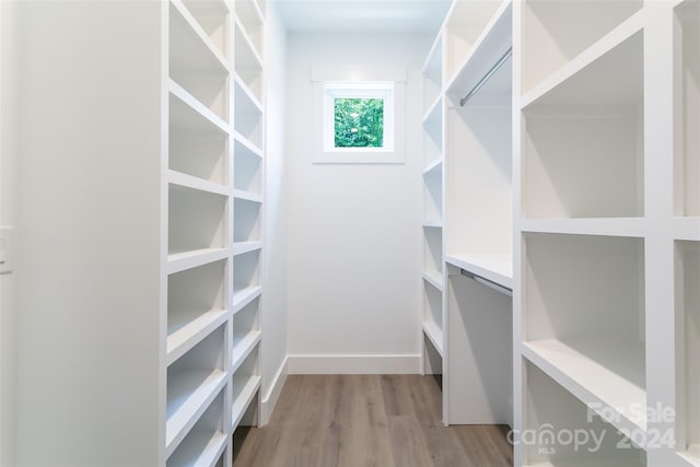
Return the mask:
[[[420,370],[421,35],[289,36],[290,373]],[[408,68],[406,163],[312,163],[311,68]]]

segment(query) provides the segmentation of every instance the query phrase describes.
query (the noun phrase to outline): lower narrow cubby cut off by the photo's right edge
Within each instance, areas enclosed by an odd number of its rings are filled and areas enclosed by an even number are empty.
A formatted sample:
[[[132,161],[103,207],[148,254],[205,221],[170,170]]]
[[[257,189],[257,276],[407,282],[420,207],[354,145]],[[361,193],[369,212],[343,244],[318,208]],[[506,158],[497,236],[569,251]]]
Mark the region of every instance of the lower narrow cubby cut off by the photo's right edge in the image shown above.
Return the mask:
[[[679,404],[684,410],[678,421],[685,423],[680,433],[679,451],[685,452],[695,465],[700,465],[700,242],[676,242],[676,316],[678,341],[685,342],[685,352],[680,355],[685,364],[680,365],[679,385],[684,399]],[[685,376],[685,377],[684,377]]]

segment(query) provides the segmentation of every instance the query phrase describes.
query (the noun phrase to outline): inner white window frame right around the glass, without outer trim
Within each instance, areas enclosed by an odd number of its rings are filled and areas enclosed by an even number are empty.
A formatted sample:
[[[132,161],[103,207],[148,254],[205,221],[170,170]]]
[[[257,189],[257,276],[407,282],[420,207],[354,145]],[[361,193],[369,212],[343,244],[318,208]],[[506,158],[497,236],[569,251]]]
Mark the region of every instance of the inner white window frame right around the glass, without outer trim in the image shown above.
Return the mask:
[[[384,102],[383,139],[378,148],[336,147],[336,98],[381,98]],[[325,152],[394,152],[394,82],[326,82],[324,83],[324,151]]]

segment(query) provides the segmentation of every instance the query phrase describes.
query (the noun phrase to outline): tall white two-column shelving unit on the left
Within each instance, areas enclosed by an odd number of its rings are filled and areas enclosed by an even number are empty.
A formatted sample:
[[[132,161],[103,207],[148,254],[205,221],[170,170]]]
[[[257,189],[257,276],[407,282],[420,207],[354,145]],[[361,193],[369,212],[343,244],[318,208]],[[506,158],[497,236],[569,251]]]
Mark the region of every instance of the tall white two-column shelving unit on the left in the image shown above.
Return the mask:
[[[223,466],[259,389],[265,21],[254,0],[168,9],[165,464]]]

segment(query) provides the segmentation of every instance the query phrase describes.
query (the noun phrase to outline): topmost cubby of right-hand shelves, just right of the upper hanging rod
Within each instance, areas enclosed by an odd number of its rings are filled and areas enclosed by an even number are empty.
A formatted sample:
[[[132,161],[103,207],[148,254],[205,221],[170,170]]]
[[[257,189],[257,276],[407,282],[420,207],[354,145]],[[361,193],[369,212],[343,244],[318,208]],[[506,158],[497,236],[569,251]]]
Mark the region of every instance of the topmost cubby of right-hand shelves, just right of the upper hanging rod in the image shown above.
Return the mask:
[[[642,8],[642,0],[523,2],[522,90],[540,82]]]

